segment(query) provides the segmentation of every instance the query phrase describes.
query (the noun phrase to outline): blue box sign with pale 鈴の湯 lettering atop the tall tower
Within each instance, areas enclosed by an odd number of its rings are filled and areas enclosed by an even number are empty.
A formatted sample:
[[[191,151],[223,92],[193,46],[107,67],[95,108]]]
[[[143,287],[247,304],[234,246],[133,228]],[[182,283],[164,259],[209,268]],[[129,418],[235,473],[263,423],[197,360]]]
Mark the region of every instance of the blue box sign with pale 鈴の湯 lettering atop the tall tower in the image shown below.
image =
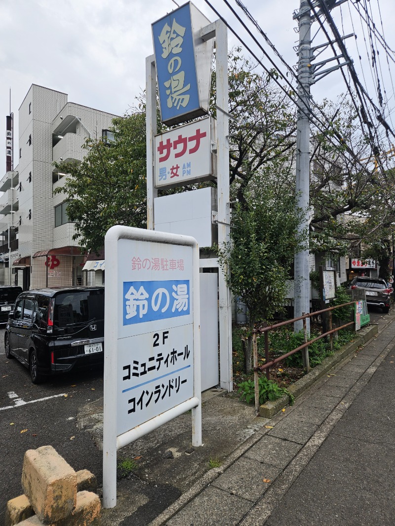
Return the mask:
[[[200,28],[209,23],[189,2],[152,24],[161,119],[167,125],[208,113],[213,44],[202,41]]]

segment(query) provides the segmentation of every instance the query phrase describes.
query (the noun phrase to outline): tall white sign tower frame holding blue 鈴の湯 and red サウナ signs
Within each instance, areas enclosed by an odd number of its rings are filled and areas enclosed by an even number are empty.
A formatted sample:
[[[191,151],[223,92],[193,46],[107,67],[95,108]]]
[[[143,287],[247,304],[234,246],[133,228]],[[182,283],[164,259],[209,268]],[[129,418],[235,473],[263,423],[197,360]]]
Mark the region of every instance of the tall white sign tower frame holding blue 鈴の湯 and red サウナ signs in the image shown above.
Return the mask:
[[[158,188],[217,178],[218,245],[230,236],[228,33],[211,23],[191,2],[152,24],[154,55],[146,57],[147,228],[154,229]],[[213,41],[216,119],[208,118],[156,134],[156,92],[167,126],[209,113]],[[156,83],[157,80],[157,83]],[[210,137],[209,137],[210,134]],[[218,268],[218,262],[213,264]],[[226,270],[226,273],[228,270]],[[220,383],[233,390],[231,299],[219,272]]]

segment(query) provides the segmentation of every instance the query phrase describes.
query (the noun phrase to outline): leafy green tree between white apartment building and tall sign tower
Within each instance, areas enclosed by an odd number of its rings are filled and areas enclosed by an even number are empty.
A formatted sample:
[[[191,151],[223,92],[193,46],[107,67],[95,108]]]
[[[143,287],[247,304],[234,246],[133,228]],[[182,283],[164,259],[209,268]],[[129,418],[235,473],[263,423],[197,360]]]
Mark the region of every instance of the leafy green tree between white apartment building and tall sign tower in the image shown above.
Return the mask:
[[[113,225],[146,226],[145,114],[113,120],[110,143],[88,138],[82,162],[55,163],[67,173],[54,193],[66,195],[67,215],[75,222],[74,239],[84,250],[97,252]]]

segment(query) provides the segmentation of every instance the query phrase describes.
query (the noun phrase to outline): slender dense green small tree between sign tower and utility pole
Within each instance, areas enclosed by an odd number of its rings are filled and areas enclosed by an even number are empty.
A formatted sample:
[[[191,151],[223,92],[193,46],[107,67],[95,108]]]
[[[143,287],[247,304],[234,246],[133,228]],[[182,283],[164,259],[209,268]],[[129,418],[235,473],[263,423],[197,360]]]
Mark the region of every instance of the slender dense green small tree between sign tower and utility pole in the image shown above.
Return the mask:
[[[251,369],[252,329],[283,309],[293,257],[307,237],[307,232],[298,235],[294,188],[282,186],[282,175],[279,163],[255,174],[244,206],[232,210],[230,241],[219,250],[225,275],[230,270],[228,284],[248,309],[246,371]]]

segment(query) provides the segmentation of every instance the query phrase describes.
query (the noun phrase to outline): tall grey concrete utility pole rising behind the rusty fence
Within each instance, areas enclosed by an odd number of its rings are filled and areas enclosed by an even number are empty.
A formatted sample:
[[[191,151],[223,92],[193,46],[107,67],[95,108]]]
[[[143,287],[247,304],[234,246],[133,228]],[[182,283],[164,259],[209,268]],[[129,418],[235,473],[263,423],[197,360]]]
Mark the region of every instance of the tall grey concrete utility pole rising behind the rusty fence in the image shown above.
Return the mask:
[[[310,83],[311,83],[311,13],[307,0],[300,1],[298,48],[298,123],[296,155],[297,207],[303,210],[299,232],[309,229],[310,208]],[[310,312],[309,242],[294,259],[294,317]],[[310,333],[310,319],[306,320]],[[303,329],[303,322],[294,323],[294,331]]]

